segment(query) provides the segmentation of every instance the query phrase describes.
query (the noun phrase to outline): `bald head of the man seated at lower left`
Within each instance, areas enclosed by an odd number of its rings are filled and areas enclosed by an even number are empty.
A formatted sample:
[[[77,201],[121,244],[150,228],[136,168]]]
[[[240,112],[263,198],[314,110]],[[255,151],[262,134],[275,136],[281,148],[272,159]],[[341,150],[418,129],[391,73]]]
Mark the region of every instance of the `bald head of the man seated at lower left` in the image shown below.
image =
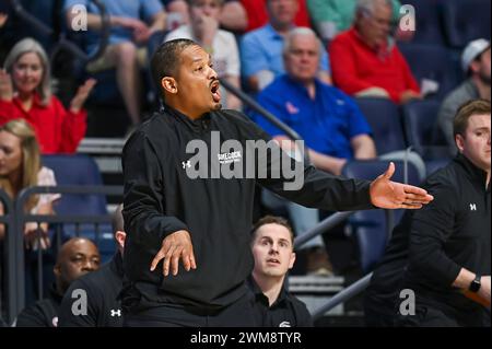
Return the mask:
[[[99,268],[101,256],[94,243],[84,237],[72,237],[60,248],[54,272],[57,290],[63,294],[70,283]]]

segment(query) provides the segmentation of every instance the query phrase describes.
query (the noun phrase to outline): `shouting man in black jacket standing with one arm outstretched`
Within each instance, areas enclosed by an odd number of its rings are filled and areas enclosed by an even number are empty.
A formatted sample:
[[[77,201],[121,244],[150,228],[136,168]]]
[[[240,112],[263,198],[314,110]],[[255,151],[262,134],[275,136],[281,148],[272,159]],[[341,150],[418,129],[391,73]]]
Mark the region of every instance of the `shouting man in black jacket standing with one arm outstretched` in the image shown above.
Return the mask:
[[[211,66],[210,55],[187,39],[163,44],[152,58],[165,104],[122,153],[128,326],[255,324],[245,280],[256,183],[327,210],[420,208],[432,200],[390,182],[394,164],[372,183],[302,165],[246,116],[221,110]],[[179,263],[188,272],[178,274]]]

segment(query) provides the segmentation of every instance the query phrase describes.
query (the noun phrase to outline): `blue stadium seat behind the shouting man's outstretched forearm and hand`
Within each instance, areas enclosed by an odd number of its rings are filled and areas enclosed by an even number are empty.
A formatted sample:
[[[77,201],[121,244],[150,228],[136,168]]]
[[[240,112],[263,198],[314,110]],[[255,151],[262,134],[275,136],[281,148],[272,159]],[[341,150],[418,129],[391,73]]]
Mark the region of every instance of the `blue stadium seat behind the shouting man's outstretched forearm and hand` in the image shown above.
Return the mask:
[[[418,171],[411,163],[408,164],[406,176],[405,164],[399,161],[394,162],[396,171],[391,179],[403,183],[407,177],[409,184],[419,184]],[[352,161],[345,164],[342,170],[342,175],[353,178],[374,179],[384,173],[387,167],[387,161]],[[394,214],[394,225],[403,214],[403,210],[364,210],[355,212],[349,219],[349,224],[359,244],[360,264],[364,274],[373,270],[384,254],[386,243],[389,239],[386,224],[387,212]]]

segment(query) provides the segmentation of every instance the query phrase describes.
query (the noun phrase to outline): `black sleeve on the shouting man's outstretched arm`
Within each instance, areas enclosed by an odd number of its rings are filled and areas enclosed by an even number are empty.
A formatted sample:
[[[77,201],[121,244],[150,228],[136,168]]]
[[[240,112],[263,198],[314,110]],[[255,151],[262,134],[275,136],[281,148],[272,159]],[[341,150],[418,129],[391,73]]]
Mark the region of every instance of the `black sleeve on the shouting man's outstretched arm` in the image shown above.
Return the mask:
[[[253,137],[269,142],[271,137],[250,123]],[[305,207],[329,211],[351,211],[375,208],[371,202],[368,181],[349,179],[307,166],[289,156],[276,142],[267,159],[258,156],[257,182],[273,193]],[[261,174],[261,164],[266,164]]]

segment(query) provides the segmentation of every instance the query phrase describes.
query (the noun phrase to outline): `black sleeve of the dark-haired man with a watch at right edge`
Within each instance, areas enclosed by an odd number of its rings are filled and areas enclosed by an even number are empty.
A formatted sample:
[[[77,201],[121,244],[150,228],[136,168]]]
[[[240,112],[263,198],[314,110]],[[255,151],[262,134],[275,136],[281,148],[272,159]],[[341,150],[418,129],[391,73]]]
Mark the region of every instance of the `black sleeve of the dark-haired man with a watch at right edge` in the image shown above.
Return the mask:
[[[427,187],[434,200],[413,213],[410,228],[409,259],[412,267],[426,279],[449,287],[461,269],[446,256],[444,245],[453,233],[457,191],[449,183],[434,183]]]

